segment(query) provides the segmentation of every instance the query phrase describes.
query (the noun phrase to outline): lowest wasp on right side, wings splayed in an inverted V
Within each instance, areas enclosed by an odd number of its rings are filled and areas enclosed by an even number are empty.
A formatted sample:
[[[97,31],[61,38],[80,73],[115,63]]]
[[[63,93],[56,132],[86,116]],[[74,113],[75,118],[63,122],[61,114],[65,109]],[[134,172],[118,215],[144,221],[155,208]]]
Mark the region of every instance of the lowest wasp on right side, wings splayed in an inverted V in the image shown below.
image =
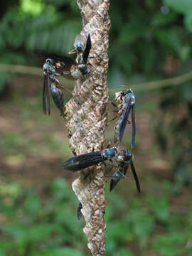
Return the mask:
[[[127,171],[129,169],[129,165],[130,165],[131,169],[132,169],[132,174],[134,176],[134,181],[135,181],[136,186],[137,186],[137,191],[139,193],[141,192],[141,188],[140,188],[140,185],[139,185],[139,178],[137,177],[137,173],[136,173],[136,170],[134,168],[133,159],[134,159],[134,156],[129,151],[129,149],[126,149],[126,150],[122,151],[122,153],[117,156],[116,161],[118,163],[118,166],[117,166],[118,171],[116,171],[114,173],[114,176],[112,176],[112,179],[110,181],[110,191],[112,191],[112,189],[117,185],[117,183],[122,178],[125,178],[125,175],[127,174]]]

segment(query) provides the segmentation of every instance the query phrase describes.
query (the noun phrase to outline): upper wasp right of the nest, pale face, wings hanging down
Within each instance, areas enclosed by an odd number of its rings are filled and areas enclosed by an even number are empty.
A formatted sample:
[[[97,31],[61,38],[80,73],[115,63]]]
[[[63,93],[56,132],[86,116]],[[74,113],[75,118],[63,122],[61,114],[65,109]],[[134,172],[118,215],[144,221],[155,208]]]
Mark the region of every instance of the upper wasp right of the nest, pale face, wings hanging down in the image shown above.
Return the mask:
[[[118,105],[119,111],[117,113],[117,116],[120,117],[114,127],[114,143],[116,142],[122,142],[122,137],[124,134],[124,129],[129,123],[129,114],[132,112],[132,143],[131,148],[134,148],[135,143],[135,134],[136,134],[136,128],[135,128],[135,115],[134,115],[134,104],[135,104],[135,97],[134,93],[131,89],[123,90],[121,92],[117,92],[115,97],[115,101],[120,103]],[[114,106],[116,106],[114,103],[112,103]],[[116,106],[117,107],[117,106]],[[114,117],[115,119],[116,117]]]

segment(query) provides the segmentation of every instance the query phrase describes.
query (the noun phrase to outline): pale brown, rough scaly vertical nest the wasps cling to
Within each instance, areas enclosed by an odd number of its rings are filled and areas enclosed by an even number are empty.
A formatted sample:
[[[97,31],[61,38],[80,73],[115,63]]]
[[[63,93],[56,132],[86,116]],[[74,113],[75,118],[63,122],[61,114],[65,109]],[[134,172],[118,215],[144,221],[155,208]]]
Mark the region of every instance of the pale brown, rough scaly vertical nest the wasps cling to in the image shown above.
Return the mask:
[[[78,0],[82,15],[80,35],[85,42],[90,33],[92,48],[88,62],[92,66],[86,80],[77,80],[73,97],[65,105],[69,144],[76,154],[100,150],[105,141],[109,5],[110,0]],[[105,255],[105,181],[102,166],[81,171],[80,177],[73,182],[73,191],[82,203],[87,246],[92,255]]]

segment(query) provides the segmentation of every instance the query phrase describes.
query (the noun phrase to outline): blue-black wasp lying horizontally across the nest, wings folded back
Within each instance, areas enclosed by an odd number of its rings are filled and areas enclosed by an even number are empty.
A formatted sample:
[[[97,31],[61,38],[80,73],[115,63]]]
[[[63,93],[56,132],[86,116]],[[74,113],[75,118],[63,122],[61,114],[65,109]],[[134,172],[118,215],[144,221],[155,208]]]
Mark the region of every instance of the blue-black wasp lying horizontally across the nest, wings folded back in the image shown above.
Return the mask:
[[[95,164],[99,164],[103,161],[112,159],[119,154],[117,146],[113,146],[110,149],[103,149],[100,151],[94,151],[87,154],[81,154],[68,159],[63,164],[63,169],[68,171],[80,171]]]

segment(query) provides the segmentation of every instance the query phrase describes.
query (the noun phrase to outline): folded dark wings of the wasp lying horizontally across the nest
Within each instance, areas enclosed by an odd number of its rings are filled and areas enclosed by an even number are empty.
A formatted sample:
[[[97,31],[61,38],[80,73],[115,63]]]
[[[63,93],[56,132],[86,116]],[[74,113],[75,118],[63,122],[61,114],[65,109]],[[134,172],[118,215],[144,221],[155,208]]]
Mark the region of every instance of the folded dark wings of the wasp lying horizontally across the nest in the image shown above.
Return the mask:
[[[102,151],[95,151],[87,154],[72,157],[63,164],[63,169],[68,171],[79,171],[89,166],[105,161]]]

